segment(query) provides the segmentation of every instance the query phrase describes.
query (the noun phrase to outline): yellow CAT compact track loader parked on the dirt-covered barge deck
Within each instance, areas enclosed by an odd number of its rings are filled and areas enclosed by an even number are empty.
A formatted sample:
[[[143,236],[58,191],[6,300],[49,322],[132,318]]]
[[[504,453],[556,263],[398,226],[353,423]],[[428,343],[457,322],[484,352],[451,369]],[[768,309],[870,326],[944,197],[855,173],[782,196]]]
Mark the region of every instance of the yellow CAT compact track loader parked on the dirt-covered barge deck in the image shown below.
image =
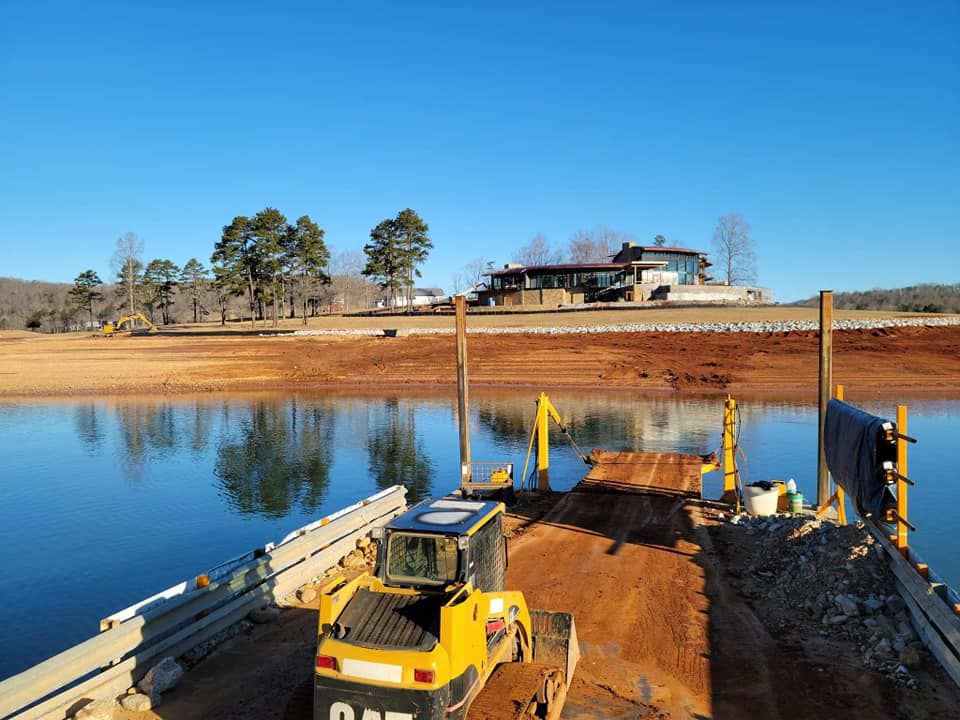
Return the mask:
[[[504,589],[503,514],[421,502],[375,533],[374,574],[323,588],[315,720],[559,714],[579,658],[573,618]]]

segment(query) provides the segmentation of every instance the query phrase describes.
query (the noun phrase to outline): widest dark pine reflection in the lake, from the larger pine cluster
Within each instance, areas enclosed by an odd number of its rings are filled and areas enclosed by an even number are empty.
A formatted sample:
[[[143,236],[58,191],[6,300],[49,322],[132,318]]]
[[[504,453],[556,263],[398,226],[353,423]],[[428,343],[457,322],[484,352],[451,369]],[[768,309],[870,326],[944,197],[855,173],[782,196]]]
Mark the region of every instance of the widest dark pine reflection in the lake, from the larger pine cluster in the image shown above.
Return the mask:
[[[260,400],[239,425],[217,448],[214,472],[221,496],[244,515],[277,519],[297,505],[315,512],[330,480],[333,408]]]

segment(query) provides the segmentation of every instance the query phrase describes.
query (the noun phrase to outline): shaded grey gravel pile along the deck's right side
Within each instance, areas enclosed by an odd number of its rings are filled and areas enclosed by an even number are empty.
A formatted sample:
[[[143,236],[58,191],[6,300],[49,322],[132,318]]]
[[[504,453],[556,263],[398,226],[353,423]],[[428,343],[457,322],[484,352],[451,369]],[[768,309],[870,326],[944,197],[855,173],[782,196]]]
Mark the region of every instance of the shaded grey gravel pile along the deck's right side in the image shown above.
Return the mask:
[[[732,527],[731,527],[732,526]],[[729,532],[752,537],[731,569],[774,629],[856,643],[865,668],[915,687],[926,656],[897,594],[883,549],[860,523],[840,527],[809,516],[735,515]]]

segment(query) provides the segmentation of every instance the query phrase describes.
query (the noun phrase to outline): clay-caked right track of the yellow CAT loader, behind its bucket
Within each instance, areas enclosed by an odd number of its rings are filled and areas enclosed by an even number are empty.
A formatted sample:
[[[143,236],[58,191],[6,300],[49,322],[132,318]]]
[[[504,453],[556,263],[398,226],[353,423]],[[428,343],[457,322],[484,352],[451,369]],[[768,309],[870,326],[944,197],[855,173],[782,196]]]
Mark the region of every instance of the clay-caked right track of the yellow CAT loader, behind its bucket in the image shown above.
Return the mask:
[[[567,684],[563,670],[540,663],[503,663],[473,701],[467,720],[553,720]]]

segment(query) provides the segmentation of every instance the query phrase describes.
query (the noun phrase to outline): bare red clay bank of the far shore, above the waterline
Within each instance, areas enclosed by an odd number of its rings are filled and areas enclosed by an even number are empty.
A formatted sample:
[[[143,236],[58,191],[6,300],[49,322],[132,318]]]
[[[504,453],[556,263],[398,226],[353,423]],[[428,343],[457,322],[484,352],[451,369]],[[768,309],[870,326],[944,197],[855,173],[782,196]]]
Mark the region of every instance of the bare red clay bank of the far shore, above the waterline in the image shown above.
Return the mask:
[[[476,388],[814,395],[817,333],[472,335]],[[871,392],[960,393],[960,327],[834,333],[834,379]],[[449,388],[453,337],[0,334],[0,397]]]

